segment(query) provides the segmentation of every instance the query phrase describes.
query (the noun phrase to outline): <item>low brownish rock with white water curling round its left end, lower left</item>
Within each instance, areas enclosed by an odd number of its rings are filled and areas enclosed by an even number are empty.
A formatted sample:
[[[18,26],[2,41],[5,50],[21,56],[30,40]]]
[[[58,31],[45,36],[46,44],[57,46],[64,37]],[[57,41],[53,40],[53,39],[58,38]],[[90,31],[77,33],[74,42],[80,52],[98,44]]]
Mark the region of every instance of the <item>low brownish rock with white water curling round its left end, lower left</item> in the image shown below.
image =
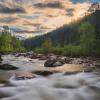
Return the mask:
[[[26,79],[32,79],[35,78],[35,76],[30,72],[18,72],[15,74],[16,80],[26,80]]]

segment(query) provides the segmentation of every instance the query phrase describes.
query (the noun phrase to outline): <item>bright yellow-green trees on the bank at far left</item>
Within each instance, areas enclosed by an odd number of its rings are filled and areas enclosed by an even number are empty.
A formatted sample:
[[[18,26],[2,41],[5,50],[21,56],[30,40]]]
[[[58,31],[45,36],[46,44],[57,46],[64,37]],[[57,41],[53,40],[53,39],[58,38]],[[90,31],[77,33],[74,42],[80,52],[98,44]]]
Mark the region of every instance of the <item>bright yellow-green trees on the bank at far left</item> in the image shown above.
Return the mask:
[[[18,52],[24,51],[19,40],[17,40],[8,30],[3,30],[0,35],[0,52]]]

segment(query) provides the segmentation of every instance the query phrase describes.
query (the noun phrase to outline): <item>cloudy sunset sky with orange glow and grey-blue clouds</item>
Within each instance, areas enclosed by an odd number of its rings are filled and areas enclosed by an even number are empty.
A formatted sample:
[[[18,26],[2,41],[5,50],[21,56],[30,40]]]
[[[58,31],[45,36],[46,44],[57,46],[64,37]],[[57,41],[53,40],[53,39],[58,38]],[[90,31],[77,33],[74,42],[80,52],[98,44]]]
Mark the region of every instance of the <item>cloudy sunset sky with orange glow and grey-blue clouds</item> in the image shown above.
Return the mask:
[[[41,35],[79,19],[91,2],[99,1],[0,0],[0,25],[8,25],[25,37]]]

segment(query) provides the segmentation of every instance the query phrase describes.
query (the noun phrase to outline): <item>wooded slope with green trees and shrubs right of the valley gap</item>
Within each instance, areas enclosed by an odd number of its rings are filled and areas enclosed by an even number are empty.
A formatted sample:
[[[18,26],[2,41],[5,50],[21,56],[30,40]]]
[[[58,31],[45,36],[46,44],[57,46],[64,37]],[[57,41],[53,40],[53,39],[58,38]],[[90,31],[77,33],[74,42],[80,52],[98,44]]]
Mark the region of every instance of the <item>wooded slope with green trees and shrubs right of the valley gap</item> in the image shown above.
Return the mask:
[[[24,41],[24,46],[42,53],[68,56],[100,56],[100,10],[48,34]],[[48,40],[48,38],[50,40]],[[59,47],[58,47],[59,46]]]

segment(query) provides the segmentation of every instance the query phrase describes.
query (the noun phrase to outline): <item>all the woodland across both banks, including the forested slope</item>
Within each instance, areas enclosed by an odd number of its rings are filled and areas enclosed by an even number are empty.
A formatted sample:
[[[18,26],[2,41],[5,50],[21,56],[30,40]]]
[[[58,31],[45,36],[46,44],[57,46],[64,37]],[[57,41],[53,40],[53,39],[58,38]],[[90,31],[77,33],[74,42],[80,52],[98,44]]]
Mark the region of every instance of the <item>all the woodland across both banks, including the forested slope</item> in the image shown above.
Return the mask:
[[[100,56],[100,10],[45,35],[19,40],[4,28],[0,52],[54,53],[66,56]]]

